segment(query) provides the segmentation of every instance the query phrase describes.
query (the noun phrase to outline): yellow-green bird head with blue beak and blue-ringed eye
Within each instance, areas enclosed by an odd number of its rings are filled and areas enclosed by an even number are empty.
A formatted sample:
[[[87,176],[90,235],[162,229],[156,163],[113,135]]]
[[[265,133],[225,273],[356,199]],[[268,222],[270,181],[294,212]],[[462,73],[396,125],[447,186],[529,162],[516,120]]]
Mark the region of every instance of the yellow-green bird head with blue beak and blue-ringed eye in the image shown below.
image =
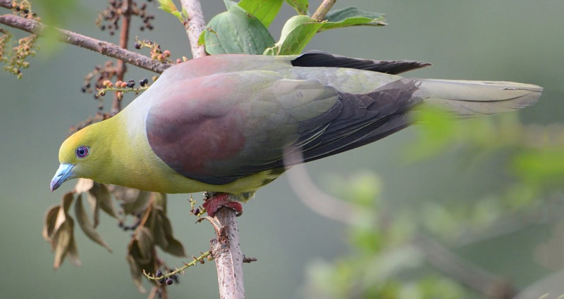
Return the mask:
[[[100,128],[103,122],[90,125],[69,136],[59,149],[61,165],[51,180],[51,191],[69,179],[85,177],[95,179],[106,165],[104,145],[106,135]]]

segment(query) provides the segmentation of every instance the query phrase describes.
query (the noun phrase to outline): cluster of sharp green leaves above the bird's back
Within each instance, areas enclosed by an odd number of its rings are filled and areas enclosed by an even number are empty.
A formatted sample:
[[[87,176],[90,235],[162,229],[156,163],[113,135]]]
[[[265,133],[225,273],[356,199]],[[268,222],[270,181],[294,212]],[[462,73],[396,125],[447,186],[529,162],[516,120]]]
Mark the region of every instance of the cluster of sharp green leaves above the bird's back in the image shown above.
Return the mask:
[[[165,1],[165,0],[162,0]],[[298,15],[288,19],[276,44],[267,27],[280,10],[282,0],[242,0],[238,4],[226,0],[227,11],[216,15],[202,32],[199,43],[211,55],[246,53],[293,55],[300,53],[317,32],[348,26],[381,26],[384,15],[355,7],[329,13],[319,22],[307,15],[308,1],[288,0]]]

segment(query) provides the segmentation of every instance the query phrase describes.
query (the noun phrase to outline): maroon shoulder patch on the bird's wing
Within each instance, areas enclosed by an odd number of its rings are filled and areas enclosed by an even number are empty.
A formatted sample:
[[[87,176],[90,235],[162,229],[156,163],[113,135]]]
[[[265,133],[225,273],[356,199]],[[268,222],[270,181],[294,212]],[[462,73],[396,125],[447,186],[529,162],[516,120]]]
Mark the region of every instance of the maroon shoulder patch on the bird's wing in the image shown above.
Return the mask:
[[[239,153],[245,145],[245,115],[226,98],[235,91],[226,90],[230,86],[195,79],[161,95],[166,99],[149,110],[146,132],[152,150],[166,165],[206,182],[218,163]]]

